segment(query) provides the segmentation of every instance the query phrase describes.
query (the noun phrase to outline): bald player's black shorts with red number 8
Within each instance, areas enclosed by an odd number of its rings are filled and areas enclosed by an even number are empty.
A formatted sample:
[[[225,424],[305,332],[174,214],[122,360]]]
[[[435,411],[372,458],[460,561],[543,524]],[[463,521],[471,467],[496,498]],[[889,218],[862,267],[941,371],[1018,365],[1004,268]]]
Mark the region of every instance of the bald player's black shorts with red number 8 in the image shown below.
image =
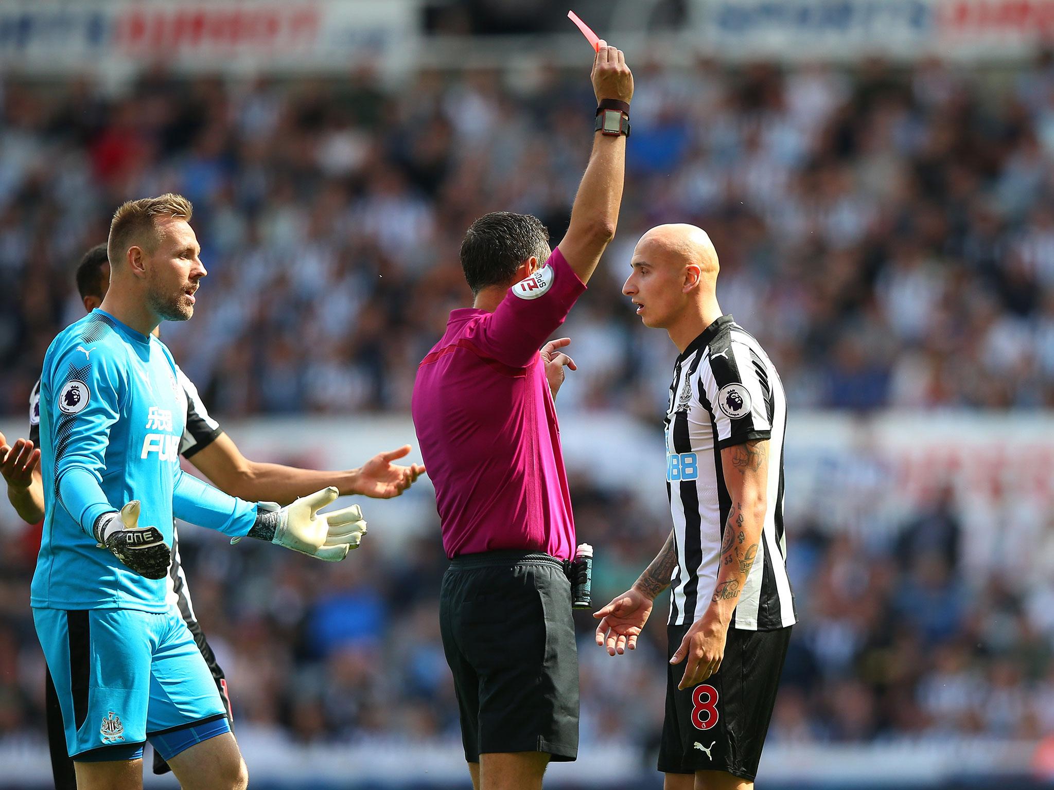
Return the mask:
[[[667,659],[688,626],[669,626]],[[666,720],[659,749],[663,773],[727,771],[754,781],[776,705],[790,627],[728,629],[721,668],[703,684],[678,691],[687,659],[666,667]]]

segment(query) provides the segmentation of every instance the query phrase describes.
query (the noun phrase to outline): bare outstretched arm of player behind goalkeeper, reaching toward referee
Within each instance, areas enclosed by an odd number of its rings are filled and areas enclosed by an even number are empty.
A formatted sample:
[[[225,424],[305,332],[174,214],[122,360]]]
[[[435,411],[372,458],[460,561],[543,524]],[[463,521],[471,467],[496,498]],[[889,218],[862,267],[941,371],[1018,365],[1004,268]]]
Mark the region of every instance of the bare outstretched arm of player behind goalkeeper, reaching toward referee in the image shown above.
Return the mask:
[[[375,499],[398,496],[425,473],[425,468],[417,463],[402,467],[392,462],[409,452],[410,446],[405,445],[378,453],[357,469],[324,472],[250,460],[230,436],[220,433],[188,460],[216,488],[231,496],[289,505],[297,497],[330,486],[336,488],[340,496],[360,494]]]

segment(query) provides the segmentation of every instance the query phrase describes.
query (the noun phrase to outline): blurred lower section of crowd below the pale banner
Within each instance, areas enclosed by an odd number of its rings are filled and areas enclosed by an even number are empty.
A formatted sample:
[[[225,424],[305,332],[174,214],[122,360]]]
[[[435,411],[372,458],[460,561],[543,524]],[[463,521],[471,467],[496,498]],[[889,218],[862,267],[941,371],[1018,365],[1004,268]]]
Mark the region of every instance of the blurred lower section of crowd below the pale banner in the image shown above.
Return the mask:
[[[600,547],[593,600],[627,589],[664,535],[631,494],[572,480],[580,534]],[[646,526],[642,526],[646,525]],[[1048,592],[962,572],[957,506],[944,496],[899,537],[862,542],[788,526],[800,623],[772,743],[1033,738],[1054,731]],[[193,530],[193,532],[192,532]],[[26,598],[36,536],[0,545],[0,743],[43,732],[43,663]],[[227,670],[237,727],[275,743],[458,739],[438,633],[446,559],[437,525],[397,553],[382,536],[348,561],[186,528],[195,610]],[[392,547],[388,546],[390,550]],[[663,595],[636,652],[611,658],[577,615],[584,748],[658,748],[665,698]],[[265,743],[268,743],[267,740]]]

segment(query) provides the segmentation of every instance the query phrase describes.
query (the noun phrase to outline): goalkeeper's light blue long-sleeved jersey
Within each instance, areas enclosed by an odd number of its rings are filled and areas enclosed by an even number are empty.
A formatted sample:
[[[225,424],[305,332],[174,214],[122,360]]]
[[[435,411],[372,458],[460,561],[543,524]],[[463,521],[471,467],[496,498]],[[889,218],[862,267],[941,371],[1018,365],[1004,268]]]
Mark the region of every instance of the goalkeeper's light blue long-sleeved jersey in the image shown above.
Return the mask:
[[[245,535],[256,506],[179,468],[186,410],[160,340],[94,310],[44,356],[40,384],[44,527],[31,604],[45,609],[163,612],[165,580],[128,569],[93,536],[95,520],[141,502],[140,527],[172,545],[175,515]]]

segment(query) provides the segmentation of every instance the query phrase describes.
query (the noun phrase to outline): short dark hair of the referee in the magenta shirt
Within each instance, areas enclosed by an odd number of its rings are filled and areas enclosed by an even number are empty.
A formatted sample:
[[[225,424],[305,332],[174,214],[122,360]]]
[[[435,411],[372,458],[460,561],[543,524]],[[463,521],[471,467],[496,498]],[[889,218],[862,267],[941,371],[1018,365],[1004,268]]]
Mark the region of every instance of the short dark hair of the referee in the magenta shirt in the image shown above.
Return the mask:
[[[461,261],[473,296],[490,285],[509,285],[520,264],[549,257],[549,232],[529,214],[491,212],[469,225]]]

